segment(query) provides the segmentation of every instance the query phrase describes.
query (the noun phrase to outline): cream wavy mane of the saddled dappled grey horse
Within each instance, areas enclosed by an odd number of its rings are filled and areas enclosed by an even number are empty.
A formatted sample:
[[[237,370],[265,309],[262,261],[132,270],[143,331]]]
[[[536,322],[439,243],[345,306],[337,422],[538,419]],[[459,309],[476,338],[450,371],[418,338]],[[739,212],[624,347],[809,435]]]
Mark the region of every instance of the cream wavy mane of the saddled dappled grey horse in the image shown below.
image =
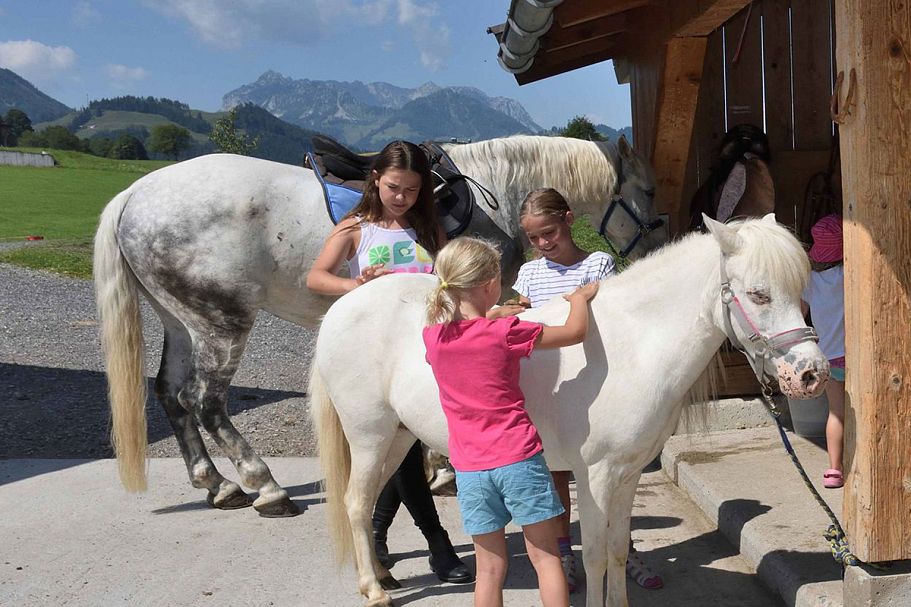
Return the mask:
[[[456,166],[470,164],[470,174],[482,183],[523,184],[526,190],[552,187],[571,206],[603,200],[617,183],[609,150],[592,141],[514,135],[443,148]]]

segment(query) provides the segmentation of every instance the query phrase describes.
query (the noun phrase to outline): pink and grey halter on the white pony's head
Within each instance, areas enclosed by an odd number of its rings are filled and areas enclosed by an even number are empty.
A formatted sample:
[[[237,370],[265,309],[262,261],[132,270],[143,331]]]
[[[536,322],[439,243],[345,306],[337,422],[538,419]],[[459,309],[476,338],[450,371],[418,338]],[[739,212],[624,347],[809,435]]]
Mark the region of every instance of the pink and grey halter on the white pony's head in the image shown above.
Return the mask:
[[[805,341],[819,341],[819,336],[812,327],[788,329],[769,337],[763,335],[759,328],[756,327],[756,324],[750,320],[749,315],[743,308],[743,304],[740,303],[734,293],[734,289],[731,287],[731,281],[724,269],[724,255],[721,256],[721,303],[723,304],[725,335],[730,340],[731,345],[747,357],[747,361],[750,363],[750,367],[752,367],[753,373],[762,387],[763,394],[766,396],[771,395],[772,391],[772,376],[766,372],[766,361],[770,356],[772,354],[782,355],[792,346]],[[754,354],[747,352],[743,343],[737,338],[731,323],[731,316],[740,325],[740,329],[747,334],[747,339],[753,345]]]

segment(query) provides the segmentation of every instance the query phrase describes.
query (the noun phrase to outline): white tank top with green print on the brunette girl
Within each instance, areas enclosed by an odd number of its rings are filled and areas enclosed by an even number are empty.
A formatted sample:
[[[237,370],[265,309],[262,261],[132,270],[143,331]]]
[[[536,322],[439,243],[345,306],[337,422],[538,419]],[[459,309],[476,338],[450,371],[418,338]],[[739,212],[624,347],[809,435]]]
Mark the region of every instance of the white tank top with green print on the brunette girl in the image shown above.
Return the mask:
[[[433,272],[433,259],[417,243],[414,228],[389,230],[375,223],[361,223],[361,242],[348,260],[351,276],[359,276],[361,268],[383,264],[393,272]]]

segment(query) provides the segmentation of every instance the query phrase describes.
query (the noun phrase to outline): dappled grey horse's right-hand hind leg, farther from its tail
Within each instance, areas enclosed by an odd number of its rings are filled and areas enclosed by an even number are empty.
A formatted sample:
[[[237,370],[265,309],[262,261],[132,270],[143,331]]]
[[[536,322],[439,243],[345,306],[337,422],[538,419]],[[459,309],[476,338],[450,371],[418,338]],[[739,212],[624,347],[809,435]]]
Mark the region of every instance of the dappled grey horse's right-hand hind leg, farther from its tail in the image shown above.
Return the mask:
[[[223,330],[197,332],[190,359],[193,374],[180,391],[178,400],[195,413],[203,428],[231,459],[241,482],[259,492],[253,507],[260,516],[296,516],[300,514],[300,509],[288,497],[288,492],[275,482],[269,467],[228,417],[228,387],[251,327],[252,322],[230,334]]]

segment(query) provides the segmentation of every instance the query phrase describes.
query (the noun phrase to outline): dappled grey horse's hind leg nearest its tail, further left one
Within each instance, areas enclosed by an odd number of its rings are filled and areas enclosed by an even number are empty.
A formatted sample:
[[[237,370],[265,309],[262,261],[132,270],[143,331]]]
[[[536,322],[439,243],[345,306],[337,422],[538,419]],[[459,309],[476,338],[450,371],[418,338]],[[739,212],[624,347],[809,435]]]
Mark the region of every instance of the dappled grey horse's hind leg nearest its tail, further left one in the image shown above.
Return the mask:
[[[177,395],[187,383],[192,345],[190,334],[173,316],[159,309],[164,325],[164,348],[155,380],[158,401],[168,415],[177,445],[194,487],[208,489],[208,502],[215,508],[244,508],[253,500],[240,486],[227,480],[215,468],[193,415],[178,402]]]

